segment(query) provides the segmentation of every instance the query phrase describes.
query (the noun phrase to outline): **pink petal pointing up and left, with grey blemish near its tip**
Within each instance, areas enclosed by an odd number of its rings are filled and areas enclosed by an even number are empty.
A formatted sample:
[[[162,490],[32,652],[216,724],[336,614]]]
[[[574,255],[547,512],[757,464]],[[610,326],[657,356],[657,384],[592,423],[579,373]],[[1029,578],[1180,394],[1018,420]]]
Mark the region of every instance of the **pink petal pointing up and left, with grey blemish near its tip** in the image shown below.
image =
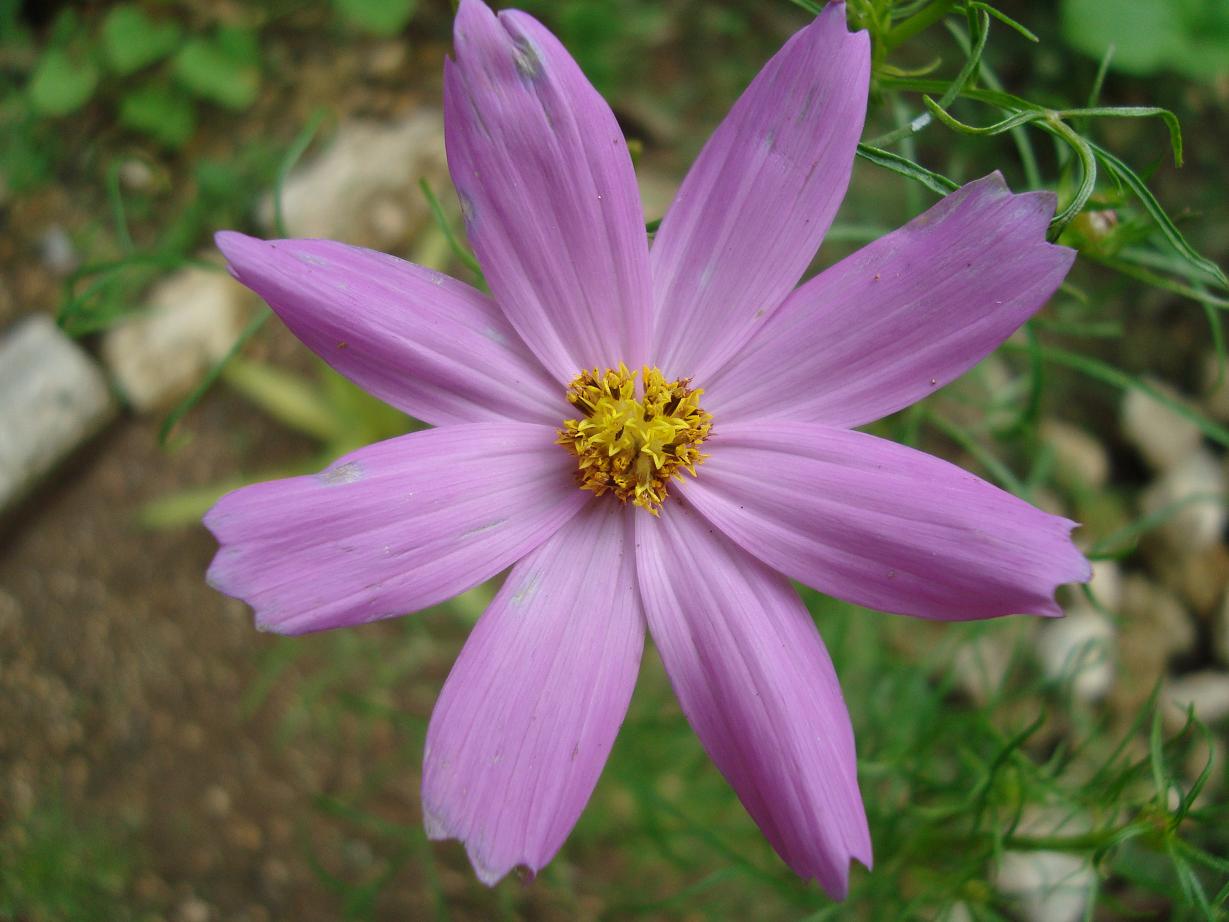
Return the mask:
[[[462,0],[444,124],[469,242],[512,326],[559,381],[645,358],[649,256],[610,106],[532,17]]]

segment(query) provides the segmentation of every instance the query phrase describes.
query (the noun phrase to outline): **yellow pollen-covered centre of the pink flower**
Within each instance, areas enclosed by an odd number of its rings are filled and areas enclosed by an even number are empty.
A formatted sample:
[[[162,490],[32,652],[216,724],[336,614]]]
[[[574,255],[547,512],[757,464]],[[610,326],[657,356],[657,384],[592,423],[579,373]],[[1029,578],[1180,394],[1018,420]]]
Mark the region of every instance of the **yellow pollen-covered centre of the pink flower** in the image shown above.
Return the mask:
[[[699,407],[704,392],[689,379],[667,381],[655,368],[581,371],[568,388],[580,413],[565,419],[558,443],[576,456],[576,483],[599,497],[613,493],[653,515],[681,471],[696,476],[713,417]]]

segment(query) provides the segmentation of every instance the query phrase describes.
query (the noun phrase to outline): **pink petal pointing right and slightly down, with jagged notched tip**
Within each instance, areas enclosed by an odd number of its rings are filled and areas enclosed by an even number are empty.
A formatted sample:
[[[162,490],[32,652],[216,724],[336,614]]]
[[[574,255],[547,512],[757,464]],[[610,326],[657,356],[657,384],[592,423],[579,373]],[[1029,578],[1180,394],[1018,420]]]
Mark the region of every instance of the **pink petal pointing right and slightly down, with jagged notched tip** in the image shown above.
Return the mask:
[[[780,420],[724,424],[709,446],[678,489],[746,551],[838,599],[945,621],[1062,615],[1056,586],[1091,575],[1075,522],[903,445]]]

